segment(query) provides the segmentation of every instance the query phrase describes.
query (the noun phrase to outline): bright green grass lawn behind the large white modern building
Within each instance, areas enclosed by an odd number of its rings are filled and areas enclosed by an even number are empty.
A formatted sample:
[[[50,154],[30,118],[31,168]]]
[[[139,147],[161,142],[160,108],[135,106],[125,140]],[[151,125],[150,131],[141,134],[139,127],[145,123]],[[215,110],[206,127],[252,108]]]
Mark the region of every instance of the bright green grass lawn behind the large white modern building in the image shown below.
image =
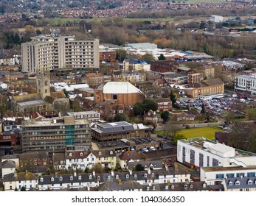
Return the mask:
[[[215,132],[223,131],[224,129],[220,129],[218,127],[193,127],[190,129],[181,129],[178,134],[183,134],[185,138],[197,138],[204,137],[210,140],[214,140]],[[156,131],[157,135],[163,135],[163,131]]]

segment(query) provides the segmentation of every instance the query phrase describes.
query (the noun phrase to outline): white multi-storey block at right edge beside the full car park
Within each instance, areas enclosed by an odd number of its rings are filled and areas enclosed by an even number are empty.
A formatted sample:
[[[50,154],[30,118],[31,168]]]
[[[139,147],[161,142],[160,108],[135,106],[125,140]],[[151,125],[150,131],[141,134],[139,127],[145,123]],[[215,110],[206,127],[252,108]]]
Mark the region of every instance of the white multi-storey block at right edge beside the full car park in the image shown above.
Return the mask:
[[[235,90],[246,91],[251,94],[256,93],[256,74],[239,75],[235,77]]]

